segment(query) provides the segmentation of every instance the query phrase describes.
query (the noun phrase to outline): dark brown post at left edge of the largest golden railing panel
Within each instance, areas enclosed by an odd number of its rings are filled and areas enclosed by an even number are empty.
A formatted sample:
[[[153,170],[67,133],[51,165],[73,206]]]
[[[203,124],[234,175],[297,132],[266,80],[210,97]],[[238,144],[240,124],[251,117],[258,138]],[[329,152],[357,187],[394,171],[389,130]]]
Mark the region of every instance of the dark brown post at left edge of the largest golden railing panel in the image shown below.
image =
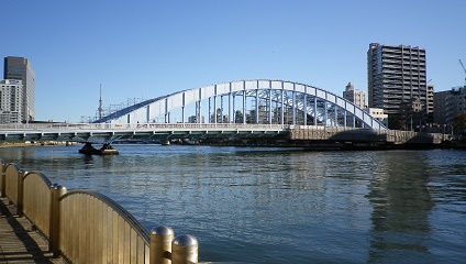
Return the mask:
[[[59,226],[60,226],[60,205],[59,198],[66,194],[66,187],[54,184],[51,186],[51,227],[48,235],[48,249],[54,257],[59,256]]]

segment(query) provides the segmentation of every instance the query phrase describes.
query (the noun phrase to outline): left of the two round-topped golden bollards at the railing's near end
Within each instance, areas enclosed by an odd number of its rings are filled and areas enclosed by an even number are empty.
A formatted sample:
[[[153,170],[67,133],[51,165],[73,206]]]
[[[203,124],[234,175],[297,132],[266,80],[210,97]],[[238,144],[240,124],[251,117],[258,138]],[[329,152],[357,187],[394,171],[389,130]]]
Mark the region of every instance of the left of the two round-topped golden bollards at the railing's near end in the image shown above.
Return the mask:
[[[171,241],[174,230],[169,227],[160,226],[151,231],[151,264],[171,263]]]

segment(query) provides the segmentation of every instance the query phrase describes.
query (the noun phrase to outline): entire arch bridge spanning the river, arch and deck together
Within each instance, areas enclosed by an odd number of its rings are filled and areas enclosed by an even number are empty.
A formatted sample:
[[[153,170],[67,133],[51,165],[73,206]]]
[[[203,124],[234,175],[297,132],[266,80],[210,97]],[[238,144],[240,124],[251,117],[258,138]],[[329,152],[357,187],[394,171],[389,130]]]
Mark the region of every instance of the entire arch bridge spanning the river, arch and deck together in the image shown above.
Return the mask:
[[[176,114],[179,121],[171,122]],[[445,136],[387,130],[341,97],[284,80],[241,80],[184,90],[124,108],[93,123],[0,125],[0,141],[75,141],[89,147],[91,143],[110,146],[118,140],[440,144]]]

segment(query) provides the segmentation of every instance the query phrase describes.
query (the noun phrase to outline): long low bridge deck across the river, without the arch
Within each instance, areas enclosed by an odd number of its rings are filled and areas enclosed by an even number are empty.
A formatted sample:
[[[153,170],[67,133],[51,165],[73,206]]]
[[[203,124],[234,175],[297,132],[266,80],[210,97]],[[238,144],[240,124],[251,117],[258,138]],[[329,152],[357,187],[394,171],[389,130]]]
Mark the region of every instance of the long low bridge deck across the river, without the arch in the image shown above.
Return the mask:
[[[74,141],[110,144],[116,140],[269,142],[303,145],[309,142],[441,144],[450,135],[385,129],[282,124],[197,123],[43,123],[2,124],[0,141]]]

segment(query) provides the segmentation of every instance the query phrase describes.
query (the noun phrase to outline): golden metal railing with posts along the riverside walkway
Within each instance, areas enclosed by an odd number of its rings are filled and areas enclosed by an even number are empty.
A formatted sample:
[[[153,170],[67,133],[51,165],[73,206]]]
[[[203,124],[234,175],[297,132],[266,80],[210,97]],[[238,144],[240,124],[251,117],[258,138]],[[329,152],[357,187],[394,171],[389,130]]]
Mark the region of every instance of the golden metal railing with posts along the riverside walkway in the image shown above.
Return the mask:
[[[16,206],[71,263],[197,263],[198,242],[168,227],[148,232],[124,208],[99,193],[67,191],[37,172],[0,158],[0,196]]]

